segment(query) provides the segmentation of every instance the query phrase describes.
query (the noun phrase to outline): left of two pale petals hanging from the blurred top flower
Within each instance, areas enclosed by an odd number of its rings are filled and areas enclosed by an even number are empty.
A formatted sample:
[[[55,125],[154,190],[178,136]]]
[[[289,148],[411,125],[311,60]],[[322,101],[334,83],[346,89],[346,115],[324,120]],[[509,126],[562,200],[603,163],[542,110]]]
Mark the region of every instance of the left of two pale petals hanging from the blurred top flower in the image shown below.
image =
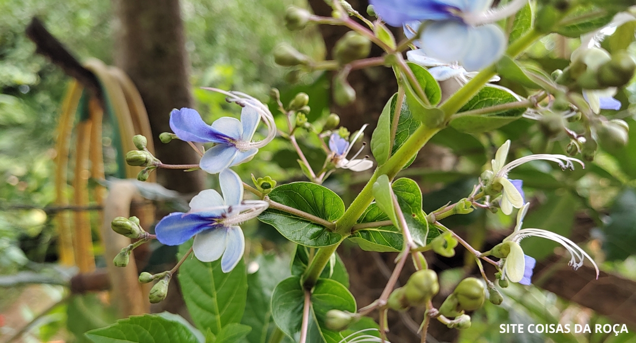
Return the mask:
[[[452,64],[466,54],[469,27],[457,20],[432,22],[425,27],[420,42],[427,56]]]

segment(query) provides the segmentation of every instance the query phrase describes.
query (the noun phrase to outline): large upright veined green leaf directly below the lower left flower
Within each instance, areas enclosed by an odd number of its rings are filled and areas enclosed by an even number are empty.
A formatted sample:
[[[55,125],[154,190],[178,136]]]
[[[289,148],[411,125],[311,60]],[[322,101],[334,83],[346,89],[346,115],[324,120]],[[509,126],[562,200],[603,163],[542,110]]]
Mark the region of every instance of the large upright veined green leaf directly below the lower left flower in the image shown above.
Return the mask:
[[[178,257],[190,249],[191,241],[179,246]],[[245,263],[228,273],[221,271],[221,259],[201,262],[191,256],[179,268],[179,285],[186,301],[188,312],[199,330],[214,335],[229,323],[239,323],[247,299],[247,275]]]

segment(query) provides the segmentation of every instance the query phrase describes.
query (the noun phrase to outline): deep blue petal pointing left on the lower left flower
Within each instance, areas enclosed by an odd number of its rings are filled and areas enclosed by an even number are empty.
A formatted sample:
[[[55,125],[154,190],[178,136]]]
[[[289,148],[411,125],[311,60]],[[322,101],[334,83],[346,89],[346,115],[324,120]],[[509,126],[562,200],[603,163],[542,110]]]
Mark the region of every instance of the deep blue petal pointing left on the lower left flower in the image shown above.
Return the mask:
[[[155,234],[165,245],[180,245],[195,234],[214,227],[212,219],[200,213],[170,213],[157,223]]]

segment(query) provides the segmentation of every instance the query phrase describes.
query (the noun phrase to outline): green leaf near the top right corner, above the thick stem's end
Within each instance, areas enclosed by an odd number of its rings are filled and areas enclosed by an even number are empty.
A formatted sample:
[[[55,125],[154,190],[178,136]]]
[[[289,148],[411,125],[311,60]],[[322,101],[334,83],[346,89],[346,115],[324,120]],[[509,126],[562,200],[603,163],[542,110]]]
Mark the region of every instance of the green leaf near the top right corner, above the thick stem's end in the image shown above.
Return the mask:
[[[582,34],[600,29],[609,24],[616,13],[595,5],[577,6],[572,13],[563,18],[567,25],[559,27],[556,33],[570,38],[578,38]]]

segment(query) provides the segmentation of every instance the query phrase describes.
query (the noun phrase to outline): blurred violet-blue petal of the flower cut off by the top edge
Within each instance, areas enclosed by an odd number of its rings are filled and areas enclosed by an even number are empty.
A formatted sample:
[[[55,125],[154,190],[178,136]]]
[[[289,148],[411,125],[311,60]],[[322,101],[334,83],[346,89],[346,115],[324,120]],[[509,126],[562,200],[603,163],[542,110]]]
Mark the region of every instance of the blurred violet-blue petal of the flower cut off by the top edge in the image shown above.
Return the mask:
[[[401,27],[413,20],[443,20],[454,18],[453,11],[459,8],[450,3],[455,1],[439,0],[371,0],[375,12],[387,24]]]

